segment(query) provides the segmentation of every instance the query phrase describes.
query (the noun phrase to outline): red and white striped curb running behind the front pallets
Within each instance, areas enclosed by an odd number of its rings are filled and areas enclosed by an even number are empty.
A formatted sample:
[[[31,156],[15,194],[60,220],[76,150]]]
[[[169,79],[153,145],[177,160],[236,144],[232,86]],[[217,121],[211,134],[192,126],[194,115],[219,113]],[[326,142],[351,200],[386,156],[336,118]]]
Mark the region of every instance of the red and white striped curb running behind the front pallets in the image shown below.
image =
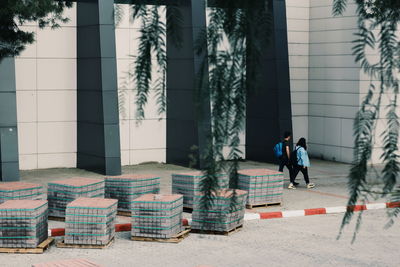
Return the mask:
[[[400,208],[400,202],[390,203],[371,203],[365,205],[354,205],[354,206],[339,206],[339,207],[328,207],[328,208],[316,208],[316,209],[304,209],[304,210],[287,210],[287,211],[274,211],[274,212],[260,212],[260,213],[246,213],[244,215],[245,221],[252,220],[266,220],[276,218],[290,218],[290,217],[302,217],[311,215],[322,215],[322,214],[337,214],[345,213],[347,210],[353,211],[364,211],[364,210],[380,210],[380,209],[392,209]],[[191,219],[182,219],[184,226],[191,225]],[[132,224],[123,223],[116,224],[116,232],[127,232],[132,228]],[[64,228],[49,229],[49,236],[63,236],[65,234]]]

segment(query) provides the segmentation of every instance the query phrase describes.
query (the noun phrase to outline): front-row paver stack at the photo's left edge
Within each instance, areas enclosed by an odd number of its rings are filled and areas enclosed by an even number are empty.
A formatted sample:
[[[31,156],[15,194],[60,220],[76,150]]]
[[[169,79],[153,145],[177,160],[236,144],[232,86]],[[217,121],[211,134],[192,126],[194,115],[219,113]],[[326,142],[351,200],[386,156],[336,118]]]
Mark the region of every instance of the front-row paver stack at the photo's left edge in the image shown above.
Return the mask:
[[[0,247],[36,248],[48,237],[46,200],[0,204]]]

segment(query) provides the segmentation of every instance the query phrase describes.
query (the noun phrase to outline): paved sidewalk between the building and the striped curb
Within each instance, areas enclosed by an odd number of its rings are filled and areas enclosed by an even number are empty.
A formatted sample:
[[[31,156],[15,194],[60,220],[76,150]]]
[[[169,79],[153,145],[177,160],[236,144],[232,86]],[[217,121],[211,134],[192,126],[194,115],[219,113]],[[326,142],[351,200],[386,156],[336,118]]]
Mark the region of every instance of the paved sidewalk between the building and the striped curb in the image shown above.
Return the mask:
[[[241,169],[268,168],[277,169],[276,165],[259,162],[241,162]],[[289,182],[288,172],[285,169],[285,185],[283,192],[283,203],[281,206],[260,207],[247,210],[246,213],[264,213],[275,211],[293,211],[314,208],[329,208],[346,206],[348,200],[347,175],[350,165],[312,160],[310,168],[310,180],[316,184],[313,189],[306,189],[302,174],[296,179],[300,185],[296,190],[287,189]],[[123,167],[123,173],[151,173],[161,177],[161,193],[171,193],[171,174],[188,171],[188,168],[169,165],[169,164],[143,164]],[[79,169],[46,169],[34,171],[22,171],[21,180],[36,182],[46,185],[50,181],[60,180],[69,177],[92,177],[102,178],[104,176],[97,173]],[[374,202],[385,202],[376,200]],[[190,218],[191,214],[185,213],[185,218]],[[118,216],[118,223],[129,223],[129,217]],[[64,223],[50,221],[49,228],[63,227]]]

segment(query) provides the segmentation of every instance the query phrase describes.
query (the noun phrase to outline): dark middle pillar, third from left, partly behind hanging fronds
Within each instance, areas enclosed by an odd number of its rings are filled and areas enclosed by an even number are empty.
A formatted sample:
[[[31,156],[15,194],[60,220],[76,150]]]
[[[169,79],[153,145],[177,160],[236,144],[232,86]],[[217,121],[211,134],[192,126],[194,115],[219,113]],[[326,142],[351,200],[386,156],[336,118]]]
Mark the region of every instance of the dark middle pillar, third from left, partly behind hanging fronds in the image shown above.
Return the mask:
[[[194,47],[206,30],[205,0],[183,1],[179,9],[184,18],[182,48],[167,37],[167,163],[187,166],[193,155],[195,166],[202,168],[211,108],[206,85],[198,88],[199,79],[208,80],[207,49],[198,55]]]

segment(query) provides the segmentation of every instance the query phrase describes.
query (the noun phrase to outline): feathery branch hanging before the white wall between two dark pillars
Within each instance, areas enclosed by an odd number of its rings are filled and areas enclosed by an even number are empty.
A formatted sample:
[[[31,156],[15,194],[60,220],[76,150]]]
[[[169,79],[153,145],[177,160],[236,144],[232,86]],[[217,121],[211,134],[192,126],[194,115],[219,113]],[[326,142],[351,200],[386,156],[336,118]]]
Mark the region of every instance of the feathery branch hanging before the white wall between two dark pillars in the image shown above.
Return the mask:
[[[160,12],[167,11],[167,24],[162,21]],[[160,118],[166,112],[166,71],[167,31],[169,38],[173,38],[174,44],[179,46],[182,41],[182,14],[176,5],[168,6],[167,10],[160,5],[147,7],[146,5],[132,6],[132,20],[139,19],[141,30],[139,37],[138,56],[135,60],[134,81],[136,84],[136,118],[140,123],[145,118],[144,108],[148,102],[150,90],[155,90]],[[153,62],[156,59],[158,78],[153,81]],[[151,85],[153,87],[151,88]]]

